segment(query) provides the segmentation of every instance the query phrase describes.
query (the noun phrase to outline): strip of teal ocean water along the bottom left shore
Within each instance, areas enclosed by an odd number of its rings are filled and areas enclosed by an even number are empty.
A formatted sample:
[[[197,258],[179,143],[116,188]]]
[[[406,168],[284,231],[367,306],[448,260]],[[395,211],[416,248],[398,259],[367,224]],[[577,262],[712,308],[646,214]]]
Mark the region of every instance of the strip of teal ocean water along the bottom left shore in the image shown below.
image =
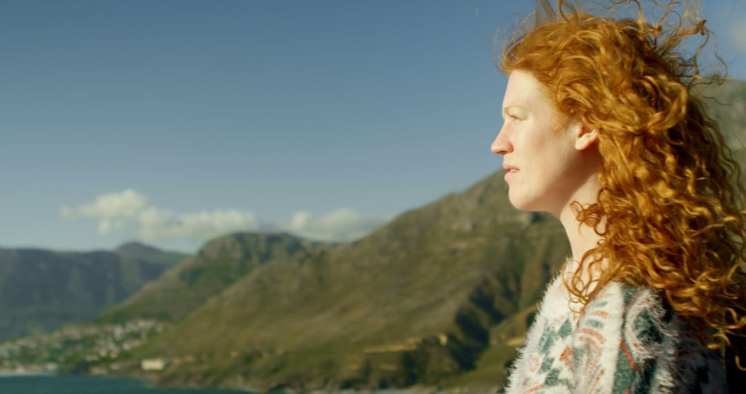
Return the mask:
[[[86,375],[0,377],[0,394],[246,394],[219,389],[164,389],[137,379]]]

